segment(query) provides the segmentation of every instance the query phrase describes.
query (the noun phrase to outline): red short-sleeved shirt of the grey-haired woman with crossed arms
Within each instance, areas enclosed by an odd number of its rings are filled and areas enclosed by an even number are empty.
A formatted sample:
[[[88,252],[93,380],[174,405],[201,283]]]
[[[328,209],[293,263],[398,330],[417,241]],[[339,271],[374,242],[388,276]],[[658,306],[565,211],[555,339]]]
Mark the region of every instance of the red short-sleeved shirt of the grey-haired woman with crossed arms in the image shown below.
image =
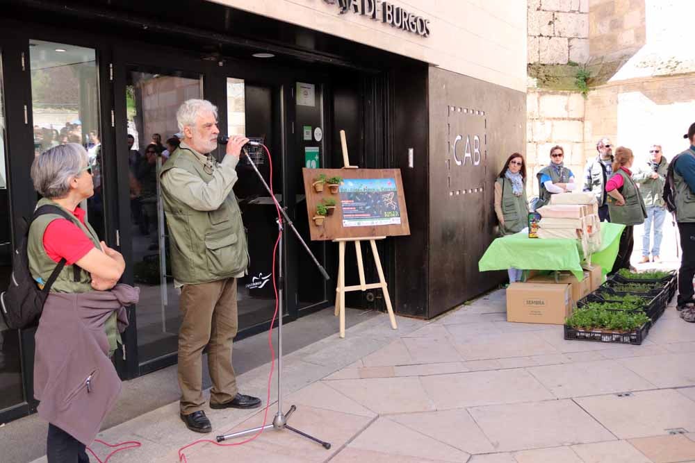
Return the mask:
[[[85,223],[85,211],[75,208],[72,211],[82,224]],[[85,233],[67,219],[51,221],[44,230],[43,245],[49,258],[54,262],[60,262],[65,258],[66,265],[72,265],[94,249],[94,243]]]

